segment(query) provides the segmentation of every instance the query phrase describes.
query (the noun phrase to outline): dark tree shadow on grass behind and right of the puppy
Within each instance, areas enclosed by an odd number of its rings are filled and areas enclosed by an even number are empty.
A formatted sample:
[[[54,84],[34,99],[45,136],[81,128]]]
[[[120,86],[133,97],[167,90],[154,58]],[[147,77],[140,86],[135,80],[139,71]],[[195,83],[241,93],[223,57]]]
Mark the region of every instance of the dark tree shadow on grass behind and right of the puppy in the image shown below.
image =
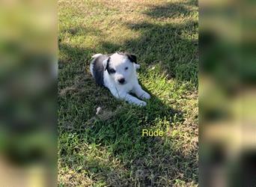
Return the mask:
[[[129,40],[124,45],[128,48],[136,46],[132,51],[143,54],[141,56],[144,59],[143,63],[160,64],[162,72],[168,74],[169,78],[180,81],[192,80],[196,84],[197,75],[192,73],[198,68],[196,48],[198,41],[183,38],[182,34],[186,28],[194,28],[197,24],[197,22],[165,25],[148,22],[127,23],[130,29],[135,31],[142,29],[142,37],[138,40]]]

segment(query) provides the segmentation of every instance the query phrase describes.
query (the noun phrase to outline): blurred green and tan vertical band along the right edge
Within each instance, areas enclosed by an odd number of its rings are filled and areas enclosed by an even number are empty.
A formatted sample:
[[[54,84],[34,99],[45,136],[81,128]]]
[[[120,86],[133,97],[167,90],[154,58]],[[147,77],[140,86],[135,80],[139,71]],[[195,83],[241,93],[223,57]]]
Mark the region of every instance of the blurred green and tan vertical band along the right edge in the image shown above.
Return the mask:
[[[256,186],[256,3],[199,1],[200,186]]]

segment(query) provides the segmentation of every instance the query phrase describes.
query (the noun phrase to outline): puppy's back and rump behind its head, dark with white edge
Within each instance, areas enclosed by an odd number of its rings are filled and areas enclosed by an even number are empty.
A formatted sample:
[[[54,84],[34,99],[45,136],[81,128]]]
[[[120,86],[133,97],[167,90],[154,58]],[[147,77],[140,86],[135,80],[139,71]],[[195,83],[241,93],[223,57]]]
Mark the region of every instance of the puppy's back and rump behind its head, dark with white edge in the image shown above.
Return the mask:
[[[106,58],[109,58],[109,56],[96,54],[96,55],[93,55],[92,58],[94,59],[91,61],[91,64],[90,64],[91,75],[94,77],[95,82],[97,82],[98,85],[104,86],[103,61]]]

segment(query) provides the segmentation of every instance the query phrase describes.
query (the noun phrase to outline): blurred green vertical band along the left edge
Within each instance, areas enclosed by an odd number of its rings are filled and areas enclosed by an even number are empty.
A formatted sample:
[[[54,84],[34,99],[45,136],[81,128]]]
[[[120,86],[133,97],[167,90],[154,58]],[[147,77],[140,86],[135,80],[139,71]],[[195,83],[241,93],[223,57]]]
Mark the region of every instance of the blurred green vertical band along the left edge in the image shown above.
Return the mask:
[[[56,186],[57,7],[0,1],[0,186]]]

